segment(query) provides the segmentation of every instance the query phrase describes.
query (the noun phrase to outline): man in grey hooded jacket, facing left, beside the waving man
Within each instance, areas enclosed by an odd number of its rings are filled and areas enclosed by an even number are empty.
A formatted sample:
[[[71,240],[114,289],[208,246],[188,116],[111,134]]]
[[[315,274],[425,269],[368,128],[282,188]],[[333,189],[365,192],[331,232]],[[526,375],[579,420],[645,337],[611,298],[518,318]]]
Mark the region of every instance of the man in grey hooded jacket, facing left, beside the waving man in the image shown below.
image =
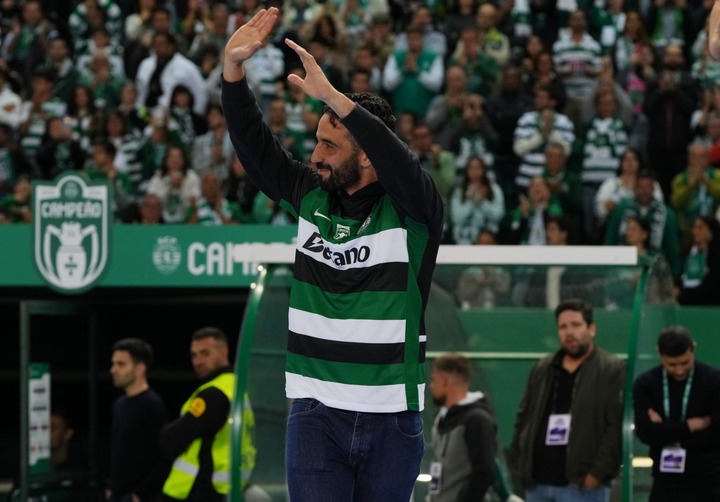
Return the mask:
[[[430,391],[442,406],[432,431],[428,502],[480,502],[495,480],[497,424],[482,392],[469,392],[470,361],[459,354],[435,360]]]

